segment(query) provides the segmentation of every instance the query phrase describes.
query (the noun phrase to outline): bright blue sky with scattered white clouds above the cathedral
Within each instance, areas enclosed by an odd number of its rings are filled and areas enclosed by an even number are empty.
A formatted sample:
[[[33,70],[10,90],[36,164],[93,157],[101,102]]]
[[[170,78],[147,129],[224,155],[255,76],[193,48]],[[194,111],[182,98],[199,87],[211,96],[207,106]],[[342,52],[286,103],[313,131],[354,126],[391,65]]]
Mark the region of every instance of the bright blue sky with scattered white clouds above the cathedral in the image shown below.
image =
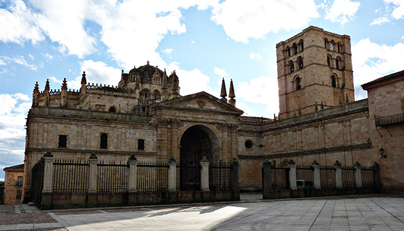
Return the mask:
[[[309,26],[351,38],[360,84],[404,69],[403,0],[0,0],[0,168],[24,161],[25,118],[36,81],[117,85],[150,61],[176,70],[181,95],[219,97],[233,79],[244,115],[279,112],[275,45]],[[4,178],[0,171],[0,180]]]

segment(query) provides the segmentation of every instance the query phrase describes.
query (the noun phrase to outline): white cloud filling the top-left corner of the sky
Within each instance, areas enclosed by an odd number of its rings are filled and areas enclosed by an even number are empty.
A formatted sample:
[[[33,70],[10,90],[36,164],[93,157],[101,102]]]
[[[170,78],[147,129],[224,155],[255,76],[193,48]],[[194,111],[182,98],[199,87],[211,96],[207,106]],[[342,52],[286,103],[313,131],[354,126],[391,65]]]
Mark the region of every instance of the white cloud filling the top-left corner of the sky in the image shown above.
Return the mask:
[[[0,8],[0,40],[19,44],[26,40],[32,43],[44,40],[38,16],[20,0],[13,1],[7,9]]]

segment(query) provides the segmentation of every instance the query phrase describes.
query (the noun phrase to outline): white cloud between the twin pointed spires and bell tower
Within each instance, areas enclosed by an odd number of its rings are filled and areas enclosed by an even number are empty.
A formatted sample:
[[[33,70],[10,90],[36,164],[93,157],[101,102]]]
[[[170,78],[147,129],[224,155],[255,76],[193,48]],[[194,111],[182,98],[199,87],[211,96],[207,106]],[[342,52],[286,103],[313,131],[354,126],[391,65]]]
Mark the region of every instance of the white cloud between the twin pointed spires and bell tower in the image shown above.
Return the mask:
[[[236,98],[243,98],[246,102],[265,105],[269,114],[279,111],[277,77],[260,76],[249,82],[241,82],[235,94]]]

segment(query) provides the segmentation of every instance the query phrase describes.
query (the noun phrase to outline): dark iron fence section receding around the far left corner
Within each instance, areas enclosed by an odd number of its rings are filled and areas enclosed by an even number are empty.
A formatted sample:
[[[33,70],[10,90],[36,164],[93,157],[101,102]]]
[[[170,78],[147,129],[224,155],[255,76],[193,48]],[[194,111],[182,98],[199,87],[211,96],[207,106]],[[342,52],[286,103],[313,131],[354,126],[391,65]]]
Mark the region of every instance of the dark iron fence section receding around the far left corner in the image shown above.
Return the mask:
[[[38,161],[32,167],[32,177],[31,177],[31,202],[35,202],[36,205],[40,205],[42,201],[42,188],[43,188],[43,177],[45,170],[45,161],[43,158]]]

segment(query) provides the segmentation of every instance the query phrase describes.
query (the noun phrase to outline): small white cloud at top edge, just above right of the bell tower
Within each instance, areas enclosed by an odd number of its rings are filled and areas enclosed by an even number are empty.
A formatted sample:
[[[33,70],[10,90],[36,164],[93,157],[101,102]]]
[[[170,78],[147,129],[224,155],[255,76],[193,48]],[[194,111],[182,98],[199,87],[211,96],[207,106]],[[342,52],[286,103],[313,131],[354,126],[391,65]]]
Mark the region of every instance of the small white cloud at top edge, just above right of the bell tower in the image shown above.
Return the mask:
[[[352,20],[361,3],[350,0],[335,0],[331,8],[326,9],[326,20],[345,24]]]

